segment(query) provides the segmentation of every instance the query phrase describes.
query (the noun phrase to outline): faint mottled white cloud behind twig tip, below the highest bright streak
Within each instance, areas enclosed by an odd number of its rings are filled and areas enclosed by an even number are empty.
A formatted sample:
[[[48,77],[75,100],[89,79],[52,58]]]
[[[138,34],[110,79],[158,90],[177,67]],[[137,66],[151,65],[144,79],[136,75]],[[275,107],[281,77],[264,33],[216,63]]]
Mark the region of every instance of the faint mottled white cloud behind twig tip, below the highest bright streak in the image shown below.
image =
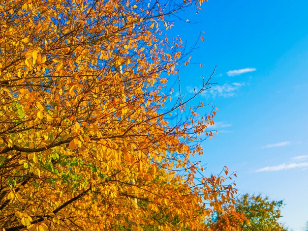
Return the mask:
[[[212,96],[215,98],[216,96],[228,98],[235,95],[235,91],[239,90],[242,86],[244,86],[244,83],[231,83],[231,84],[224,84],[224,85],[216,85],[211,86],[211,88],[203,91],[201,95],[205,97]],[[186,88],[189,93],[195,93],[198,92],[198,87],[187,87]]]

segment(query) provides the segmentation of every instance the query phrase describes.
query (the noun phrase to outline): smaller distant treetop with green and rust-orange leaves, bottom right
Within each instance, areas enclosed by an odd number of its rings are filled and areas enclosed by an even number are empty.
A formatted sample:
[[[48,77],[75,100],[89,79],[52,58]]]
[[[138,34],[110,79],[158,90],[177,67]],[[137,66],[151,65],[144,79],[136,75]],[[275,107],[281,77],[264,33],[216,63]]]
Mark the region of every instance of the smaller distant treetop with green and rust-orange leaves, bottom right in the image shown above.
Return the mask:
[[[225,207],[223,213],[216,213],[209,226],[214,230],[219,227],[218,230],[225,231],[287,230],[278,222],[282,205],[282,201],[271,201],[269,197],[244,194],[233,205]]]

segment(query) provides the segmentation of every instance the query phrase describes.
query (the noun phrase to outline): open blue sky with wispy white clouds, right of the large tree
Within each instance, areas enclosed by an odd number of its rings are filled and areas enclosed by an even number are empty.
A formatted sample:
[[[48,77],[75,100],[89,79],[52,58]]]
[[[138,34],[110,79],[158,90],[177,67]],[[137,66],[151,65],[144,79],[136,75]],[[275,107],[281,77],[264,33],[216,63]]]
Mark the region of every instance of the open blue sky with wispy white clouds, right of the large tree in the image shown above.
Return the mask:
[[[308,1],[209,0],[202,8],[180,13],[189,22],[171,30],[187,48],[205,32],[192,64],[180,70],[186,94],[217,65],[218,84],[199,99],[219,109],[218,135],[198,158],[206,174],[224,165],[236,171],[240,193],[283,199],[281,222],[301,231],[308,221]]]

